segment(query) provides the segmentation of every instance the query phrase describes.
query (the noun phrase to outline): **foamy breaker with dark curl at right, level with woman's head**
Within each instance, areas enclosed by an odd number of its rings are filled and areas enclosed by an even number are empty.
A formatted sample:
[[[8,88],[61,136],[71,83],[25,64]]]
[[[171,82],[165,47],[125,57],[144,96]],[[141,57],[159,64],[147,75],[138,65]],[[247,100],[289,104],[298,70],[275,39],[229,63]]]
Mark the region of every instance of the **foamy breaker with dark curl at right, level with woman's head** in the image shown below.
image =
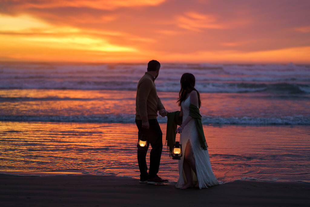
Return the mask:
[[[2,81],[0,89],[72,89],[72,90],[119,90],[135,91],[137,83],[133,81],[39,81],[9,82]],[[178,82],[156,83],[159,92],[179,92]],[[206,93],[245,93],[271,92],[274,94],[304,94],[310,93],[310,84],[296,83],[197,83],[199,92]]]

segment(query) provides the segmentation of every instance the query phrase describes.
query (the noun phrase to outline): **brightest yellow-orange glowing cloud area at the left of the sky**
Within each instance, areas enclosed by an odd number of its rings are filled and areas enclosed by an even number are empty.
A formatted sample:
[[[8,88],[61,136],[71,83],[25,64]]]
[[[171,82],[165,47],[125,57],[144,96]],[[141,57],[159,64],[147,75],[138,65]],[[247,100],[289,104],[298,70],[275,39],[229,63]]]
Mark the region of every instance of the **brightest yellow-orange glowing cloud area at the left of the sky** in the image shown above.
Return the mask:
[[[68,55],[63,52],[67,49],[82,53],[86,51],[137,52],[135,47],[110,43],[108,38],[102,36],[102,34],[111,35],[108,32],[99,31],[98,34],[96,31],[97,35],[94,36],[87,34],[91,31],[83,31],[74,27],[56,27],[27,15],[15,17],[0,15],[0,23],[3,23],[0,30],[2,40],[0,47],[6,49],[5,52],[1,52],[1,56],[6,55],[10,58],[25,60],[27,58],[49,57],[48,59],[50,59],[51,54],[48,54],[49,51],[59,50],[58,56],[60,57]],[[12,38],[12,35],[15,35],[15,37]],[[112,35],[122,34],[112,33]],[[37,55],[29,55],[27,48],[32,52],[37,52]],[[14,52],[11,53],[10,51]],[[43,55],[42,52],[46,54]],[[56,59],[59,59],[59,57]],[[72,58],[68,60],[72,61]]]

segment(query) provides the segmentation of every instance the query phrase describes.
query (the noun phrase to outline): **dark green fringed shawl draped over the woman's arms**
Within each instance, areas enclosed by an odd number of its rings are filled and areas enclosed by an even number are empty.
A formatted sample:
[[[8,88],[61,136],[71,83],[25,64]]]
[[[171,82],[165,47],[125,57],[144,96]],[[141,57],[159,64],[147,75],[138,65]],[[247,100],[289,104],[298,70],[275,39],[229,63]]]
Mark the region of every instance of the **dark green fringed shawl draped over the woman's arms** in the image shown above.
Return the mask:
[[[170,152],[170,155],[172,153],[173,145],[175,143],[175,136],[176,136],[175,130],[177,129],[177,125],[182,124],[182,117],[180,117],[179,115],[180,111],[167,113],[168,121],[166,130],[166,143],[167,143],[167,151]],[[206,138],[203,133],[201,115],[198,107],[190,104],[189,115],[195,119],[201,149],[207,150],[208,145],[206,143]]]

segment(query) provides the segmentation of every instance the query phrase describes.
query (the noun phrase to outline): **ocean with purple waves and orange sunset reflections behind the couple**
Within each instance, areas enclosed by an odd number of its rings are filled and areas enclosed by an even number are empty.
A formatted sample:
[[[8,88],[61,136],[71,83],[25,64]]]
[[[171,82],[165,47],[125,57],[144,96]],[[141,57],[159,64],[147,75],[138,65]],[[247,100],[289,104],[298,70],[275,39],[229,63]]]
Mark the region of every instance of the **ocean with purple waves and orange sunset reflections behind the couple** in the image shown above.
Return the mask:
[[[139,177],[135,93],[146,64],[0,63],[0,172]],[[201,94],[212,169],[222,182],[310,182],[310,66],[162,64],[167,111],[183,73]],[[166,118],[158,117],[166,136]],[[177,137],[178,139],[178,137]],[[163,148],[159,175],[176,182]]]

